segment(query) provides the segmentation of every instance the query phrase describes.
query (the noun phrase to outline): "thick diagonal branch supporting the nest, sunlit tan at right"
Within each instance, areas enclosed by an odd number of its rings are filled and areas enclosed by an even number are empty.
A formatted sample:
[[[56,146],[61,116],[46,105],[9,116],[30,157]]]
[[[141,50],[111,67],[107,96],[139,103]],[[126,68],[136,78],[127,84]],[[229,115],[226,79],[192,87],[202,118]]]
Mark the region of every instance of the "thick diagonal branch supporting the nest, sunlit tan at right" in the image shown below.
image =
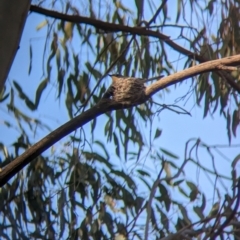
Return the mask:
[[[148,86],[145,90],[144,98],[142,98],[139,102],[135,102],[134,104],[129,103],[123,105],[112,99],[101,99],[100,102],[93,106],[91,109],[83,112],[79,116],[71,119],[61,127],[49,133],[46,137],[44,137],[38,143],[27,149],[21,156],[17,157],[5,168],[3,168],[0,172],[0,187],[6,184],[7,181],[10,180],[14,175],[16,175],[21,169],[23,169],[23,167],[33,161],[37,156],[42,154],[54,143],[56,143],[69,133],[73,132],[77,128],[82,127],[94,118],[112,110],[131,108],[138,104],[144,103],[161,89],[183,81],[189,77],[196,76],[199,73],[216,71],[218,70],[219,66],[236,66],[238,64],[240,64],[240,54],[232,57],[202,63],[189,69],[185,69],[178,73],[172,74],[168,77],[164,77],[153,83],[152,85]]]

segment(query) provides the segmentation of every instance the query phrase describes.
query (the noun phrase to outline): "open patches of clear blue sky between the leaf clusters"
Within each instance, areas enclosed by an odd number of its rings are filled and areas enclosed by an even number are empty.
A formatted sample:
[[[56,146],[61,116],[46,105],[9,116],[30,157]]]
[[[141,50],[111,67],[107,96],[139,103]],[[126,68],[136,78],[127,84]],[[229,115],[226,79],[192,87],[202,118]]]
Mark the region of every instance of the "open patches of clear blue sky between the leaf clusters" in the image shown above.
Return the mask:
[[[7,86],[10,86],[10,82],[12,80],[16,80],[24,87],[24,91],[28,94],[28,96],[33,100],[35,98],[35,89],[38,86],[40,80],[43,79],[42,76],[42,54],[44,49],[44,42],[46,38],[46,28],[43,28],[40,31],[36,31],[36,26],[41,23],[45,18],[41,15],[31,13],[27,19],[24,32],[22,35],[20,49],[17,52],[16,58],[12,65],[11,71],[8,76]],[[33,69],[30,76],[28,76],[28,67],[29,67],[29,44],[33,46]],[[173,56],[172,56],[173,57]],[[176,60],[179,58],[179,55],[176,55]],[[178,70],[182,68],[181,62],[178,63]],[[106,79],[107,82],[110,83],[110,79]],[[169,88],[170,93],[164,94],[162,98],[162,103],[165,104],[174,104],[175,100],[179,97],[182,97],[189,89],[190,81],[185,81],[183,84],[176,86],[171,86]],[[69,120],[67,111],[65,109],[65,99],[62,97],[60,100],[56,101],[57,97],[57,88],[56,85],[52,85],[52,87],[47,89],[44,92],[39,109],[34,113],[36,118],[42,119],[46,121],[47,124],[55,129],[61,124],[65,123]],[[17,99],[17,98],[16,98]],[[192,95],[189,100],[186,102],[182,101],[180,106],[183,106],[185,109],[191,112],[192,116],[189,115],[177,115],[176,113],[170,112],[168,110],[163,111],[160,115],[160,120],[158,118],[154,119],[154,127],[158,127],[163,130],[161,137],[154,142],[154,148],[165,148],[173,152],[174,154],[179,156],[179,160],[176,160],[176,164],[180,164],[183,160],[184,156],[184,148],[185,143],[190,138],[200,138],[202,141],[209,145],[215,144],[223,144],[228,145],[228,138],[226,132],[226,121],[223,117],[220,117],[218,113],[215,113],[213,117],[208,116],[203,119],[203,109],[195,106],[195,99]],[[18,106],[21,109],[26,111],[27,108],[23,102],[18,102]],[[4,107],[0,106],[0,110],[2,112],[2,119],[11,119],[8,116],[8,112],[4,110]],[[13,121],[13,120],[11,120]],[[101,116],[98,119],[101,124],[105,124],[104,116]],[[100,125],[100,124],[99,124]],[[86,129],[89,130],[89,124],[85,126]],[[149,124],[146,129],[146,136],[149,133]],[[103,139],[103,128],[99,128],[97,130],[97,136],[99,139]],[[4,127],[2,124],[0,125],[0,132],[4,138],[1,139],[2,142],[6,143],[7,146],[10,146],[16,137],[17,131],[9,130]],[[9,134],[9,132],[11,134]],[[47,130],[38,131],[37,135],[32,135],[32,139],[34,142],[37,142],[42,137],[44,137],[48,133]],[[239,144],[239,135],[240,129],[237,130],[237,138],[232,139],[232,144]],[[146,137],[147,138],[147,137]],[[95,139],[95,140],[99,140]],[[61,143],[64,143],[65,140],[68,140],[68,137],[63,139]],[[55,145],[56,149],[59,150],[62,148],[62,144],[57,143]],[[230,177],[231,173],[231,160],[239,154],[239,148],[224,148],[221,150],[228,158],[229,161],[223,159],[220,155],[216,159],[217,168],[219,172],[228,175]],[[114,150],[112,152],[114,153]],[[204,166],[211,166],[211,159],[208,154],[204,151],[201,151],[200,154],[201,164]],[[154,164],[147,162],[146,163],[152,171],[156,172],[154,168]],[[239,167],[238,167],[239,170]],[[186,179],[191,180],[193,182],[197,182],[202,191],[208,193],[208,199],[211,201],[213,198],[213,186],[209,184],[209,180],[204,176],[204,174],[198,175],[198,170],[195,166],[189,165],[186,170]],[[212,179],[214,181],[214,179]],[[227,190],[231,194],[231,184],[230,182],[226,183]],[[222,189],[221,194],[225,194],[225,189]]]

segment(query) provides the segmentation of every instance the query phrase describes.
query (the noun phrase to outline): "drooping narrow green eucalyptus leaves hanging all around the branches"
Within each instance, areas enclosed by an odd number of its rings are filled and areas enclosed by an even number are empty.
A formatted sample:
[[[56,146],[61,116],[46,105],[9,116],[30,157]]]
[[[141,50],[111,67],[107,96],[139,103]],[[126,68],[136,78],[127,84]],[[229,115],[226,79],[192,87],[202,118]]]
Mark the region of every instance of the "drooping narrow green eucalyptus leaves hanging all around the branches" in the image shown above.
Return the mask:
[[[68,115],[73,118],[79,106],[81,113],[103,96],[109,86],[103,79],[109,72],[142,78],[169,75],[179,70],[179,62],[181,68],[196,64],[194,54],[213,60],[239,52],[237,1],[179,0],[175,10],[170,1],[162,1],[161,5],[156,2],[89,0],[63,1],[60,5],[57,1],[51,4],[47,0],[35,1],[40,8],[66,15],[146,28],[166,35],[170,30],[171,38],[103,31],[88,23],[46,16],[36,26],[37,31],[47,28],[47,36],[42,80],[36,88],[35,100],[29,97],[21,79],[11,79],[11,87],[6,87],[0,95],[1,105],[12,114],[3,124],[12,131],[15,119],[19,131],[12,148],[0,143],[4,159],[1,167],[36,142],[32,134],[35,136],[43,129],[50,131],[48,123],[33,116],[34,111],[40,111],[42,95],[51,85],[56,87],[56,98],[64,99]],[[149,14],[150,20],[146,20]],[[185,46],[186,51],[172,48],[173,43]],[[30,43],[29,75],[35,67],[34,51]],[[228,77],[239,83],[237,72]],[[237,136],[240,122],[239,95],[219,72],[204,73],[190,81],[190,90],[183,98],[193,94],[196,104],[203,109],[203,117],[218,112],[225,118],[230,143]],[[183,157],[176,156],[174,149],[158,146],[162,130],[152,124],[153,120],[159,120],[166,109],[189,114],[179,106],[159,103],[168,92],[169,89],[164,89],[145,104],[107,113],[102,120],[94,119],[89,129],[82,128],[70,135],[70,140],[61,145],[60,153],[53,146],[51,152],[31,162],[1,189],[1,238],[161,239],[180,231],[181,239],[213,236],[212,227],[217,229],[223,217],[231,213],[237,196],[234,188],[233,193],[226,191],[223,199],[220,187],[224,187],[224,181],[236,184],[240,157],[232,161],[231,175],[222,175],[215,167],[216,154],[225,146],[209,146],[200,139],[191,139],[186,143]],[[22,109],[19,102],[24,104]],[[149,142],[143,125],[150,129]],[[202,162],[203,151],[213,167]],[[207,202],[209,196],[204,186],[187,179],[188,165],[195,165],[199,175],[204,172],[218,182],[214,185],[217,194],[212,206]],[[229,223],[231,231],[220,234],[238,235],[238,221],[239,216],[235,215]]]

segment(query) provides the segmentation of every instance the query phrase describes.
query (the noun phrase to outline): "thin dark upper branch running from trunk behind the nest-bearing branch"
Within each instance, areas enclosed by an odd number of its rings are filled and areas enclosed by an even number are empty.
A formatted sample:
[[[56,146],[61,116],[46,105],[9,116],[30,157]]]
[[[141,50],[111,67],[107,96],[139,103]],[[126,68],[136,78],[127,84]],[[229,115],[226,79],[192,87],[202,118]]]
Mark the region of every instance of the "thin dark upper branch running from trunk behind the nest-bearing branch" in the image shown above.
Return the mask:
[[[187,50],[186,48],[183,48],[180,45],[176,44],[175,42],[173,42],[170,39],[169,36],[166,36],[166,35],[160,33],[159,31],[149,30],[147,27],[139,27],[139,26],[129,27],[129,26],[125,26],[125,25],[104,22],[104,21],[89,18],[89,17],[67,15],[64,13],[59,13],[56,11],[48,10],[48,9],[41,8],[41,7],[34,6],[34,5],[30,6],[30,11],[36,12],[39,14],[43,14],[48,17],[53,17],[55,19],[60,19],[63,21],[68,21],[68,22],[73,22],[73,23],[85,23],[85,24],[88,24],[95,28],[105,30],[107,32],[109,32],[109,31],[110,32],[120,32],[121,31],[121,32],[125,32],[125,33],[131,33],[134,35],[139,35],[139,36],[155,37],[155,38],[158,38],[158,39],[162,40],[163,42],[165,42],[167,45],[169,45],[174,50],[178,51],[179,53],[181,53],[193,60],[197,60],[200,63],[204,63],[204,62],[208,61],[208,59],[205,59],[201,55],[193,53],[193,52]],[[219,70],[220,69],[221,68],[219,66]],[[223,71],[218,72],[218,75],[220,75],[220,77],[226,79],[228,84],[233,89],[235,89],[238,93],[240,93],[240,86],[234,81],[234,79],[231,76],[227,75],[226,72],[223,72]]]

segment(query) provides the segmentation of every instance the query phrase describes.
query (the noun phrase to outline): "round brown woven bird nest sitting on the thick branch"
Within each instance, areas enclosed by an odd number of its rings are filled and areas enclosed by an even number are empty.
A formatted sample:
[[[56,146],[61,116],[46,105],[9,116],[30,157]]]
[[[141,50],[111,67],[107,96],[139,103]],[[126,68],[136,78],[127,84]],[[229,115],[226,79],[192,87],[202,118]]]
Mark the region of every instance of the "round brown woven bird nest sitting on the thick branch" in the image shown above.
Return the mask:
[[[121,104],[134,105],[145,100],[145,89],[142,80],[139,79],[123,79],[116,81],[112,85],[112,99]]]

